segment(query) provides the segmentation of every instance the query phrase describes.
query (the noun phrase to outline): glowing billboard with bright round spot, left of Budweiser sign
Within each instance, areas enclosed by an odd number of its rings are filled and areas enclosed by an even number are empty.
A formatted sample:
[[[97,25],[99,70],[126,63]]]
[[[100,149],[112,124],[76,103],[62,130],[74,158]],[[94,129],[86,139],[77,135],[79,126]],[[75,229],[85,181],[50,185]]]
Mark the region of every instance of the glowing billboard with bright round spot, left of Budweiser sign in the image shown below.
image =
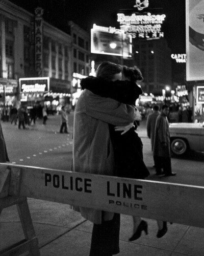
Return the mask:
[[[91,53],[132,57],[132,37],[123,30],[93,25]]]

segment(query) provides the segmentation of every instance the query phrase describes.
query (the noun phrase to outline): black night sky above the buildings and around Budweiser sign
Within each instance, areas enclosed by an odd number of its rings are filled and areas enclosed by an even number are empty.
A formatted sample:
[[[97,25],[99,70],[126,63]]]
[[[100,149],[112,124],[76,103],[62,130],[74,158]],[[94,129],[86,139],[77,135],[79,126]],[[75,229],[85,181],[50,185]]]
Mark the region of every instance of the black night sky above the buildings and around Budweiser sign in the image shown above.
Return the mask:
[[[141,0],[142,1],[142,0]],[[10,2],[34,12],[44,8],[44,19],[54,26],[66,30],[66,22],[73,20],[80,27],[90,31],[93,24],[117,27],[117,13],[120,9],[135,9],[135,0],[11,0]],[[163,8],[166,20],[164,36],[172,53],[185,53],[185,0],[149,0],[149,8]],[[148,9],[144,9],[148,11]]]

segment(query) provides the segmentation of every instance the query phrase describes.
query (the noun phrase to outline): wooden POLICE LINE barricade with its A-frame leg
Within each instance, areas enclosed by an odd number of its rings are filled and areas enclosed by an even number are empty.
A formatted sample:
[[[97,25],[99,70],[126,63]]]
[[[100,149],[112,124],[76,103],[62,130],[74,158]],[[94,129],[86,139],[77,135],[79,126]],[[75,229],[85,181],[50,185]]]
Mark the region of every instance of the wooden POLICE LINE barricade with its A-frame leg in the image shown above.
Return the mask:
[[[30,250],[31,255],[39,255],[27,197],[204,227],[204,187],[12,164],[0,164],[0,174],[1,210],[10,204],[23,202],[19,215],[24,216],[25,221],[22,223],[21,218],[21,224],[24,229],[28,223],[30,225],[28,230],[23,229],[27,245],[17,251],[19,254]],[[17,177],[18,182],[12,177]]]

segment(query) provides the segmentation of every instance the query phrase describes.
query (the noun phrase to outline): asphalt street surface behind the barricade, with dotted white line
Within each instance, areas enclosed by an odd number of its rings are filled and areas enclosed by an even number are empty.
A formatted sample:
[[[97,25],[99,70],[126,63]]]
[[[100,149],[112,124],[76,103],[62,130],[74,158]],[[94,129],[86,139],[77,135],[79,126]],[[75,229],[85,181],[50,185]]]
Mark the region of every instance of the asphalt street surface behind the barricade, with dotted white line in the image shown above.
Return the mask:
[[[204,186],[204,154],[190,153],[185,157],[172,157],[175,177],[155,176],[150,140],[146,135],[146,120],[139,126],[143,142],[144,161],[150,171],[149,180]],[[46,125],[37,120],[30,130],[18,130],[10,122],[2,122],[3,133],[11,163],[71,170],[73,113],[69,115],[69,135],[60,134],[60,116],[48,116]]]

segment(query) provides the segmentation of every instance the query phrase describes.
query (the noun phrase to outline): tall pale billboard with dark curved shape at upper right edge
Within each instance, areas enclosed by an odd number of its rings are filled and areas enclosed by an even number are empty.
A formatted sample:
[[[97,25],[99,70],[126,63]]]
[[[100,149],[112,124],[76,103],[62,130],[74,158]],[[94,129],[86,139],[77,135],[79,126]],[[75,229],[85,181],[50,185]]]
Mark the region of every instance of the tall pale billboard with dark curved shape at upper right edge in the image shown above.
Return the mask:
[[[186,0],[186,80],[204,80],[204,0]]]

